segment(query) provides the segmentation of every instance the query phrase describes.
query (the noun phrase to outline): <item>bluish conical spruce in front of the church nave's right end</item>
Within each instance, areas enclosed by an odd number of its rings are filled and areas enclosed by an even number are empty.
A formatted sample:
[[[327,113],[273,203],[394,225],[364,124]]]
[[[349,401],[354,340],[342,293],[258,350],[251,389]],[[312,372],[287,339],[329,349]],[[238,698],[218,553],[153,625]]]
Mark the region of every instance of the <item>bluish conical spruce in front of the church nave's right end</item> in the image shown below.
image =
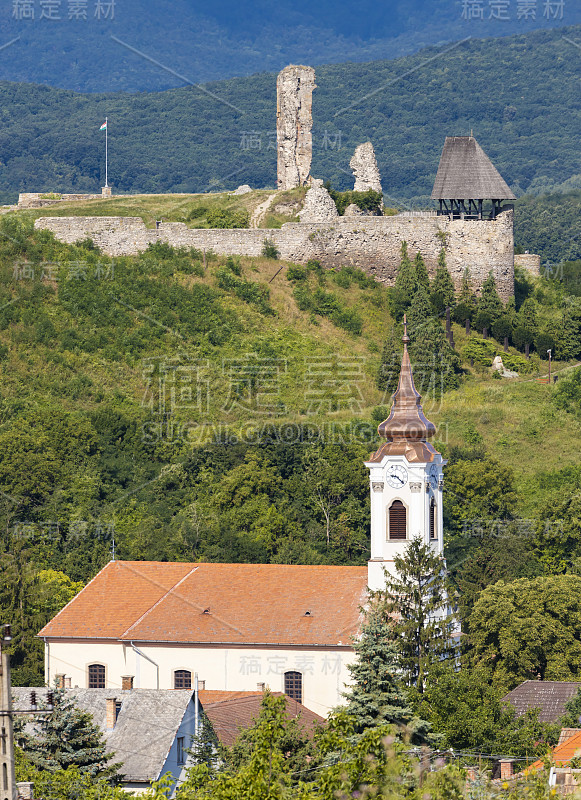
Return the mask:
[[[380,605],[368,612],[353,649],[356,658],[349,667],[353,685],[343,696],[356,732],[377,725],[407,725],[413,714],[398,677],[393,622]]]

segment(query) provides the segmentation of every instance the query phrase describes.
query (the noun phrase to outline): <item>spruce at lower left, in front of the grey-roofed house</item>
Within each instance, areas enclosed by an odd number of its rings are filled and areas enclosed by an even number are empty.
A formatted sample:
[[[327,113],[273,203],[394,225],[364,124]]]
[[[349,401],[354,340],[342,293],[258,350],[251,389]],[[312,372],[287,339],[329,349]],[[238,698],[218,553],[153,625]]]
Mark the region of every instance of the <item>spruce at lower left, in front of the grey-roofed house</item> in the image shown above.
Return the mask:
[[[120,764],[110,764],[113,753],[98,725],[78,708],[65,689],[54,691],[54,711],[35,719],[34,732],[25,732],[20,745],[38,769],[57,772],[77,767],[93,778],[115,777]]]

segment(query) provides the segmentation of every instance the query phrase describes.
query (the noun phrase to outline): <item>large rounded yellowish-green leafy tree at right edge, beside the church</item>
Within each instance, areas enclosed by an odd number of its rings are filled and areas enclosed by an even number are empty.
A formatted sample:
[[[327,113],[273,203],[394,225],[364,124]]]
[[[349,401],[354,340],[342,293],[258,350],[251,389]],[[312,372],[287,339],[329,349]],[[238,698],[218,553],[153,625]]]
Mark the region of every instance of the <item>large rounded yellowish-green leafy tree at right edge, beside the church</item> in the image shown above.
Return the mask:
[[[470,659],[508,691],[525,680],[575,680],[581,671],[581,576],[488,586],[470,615]]]

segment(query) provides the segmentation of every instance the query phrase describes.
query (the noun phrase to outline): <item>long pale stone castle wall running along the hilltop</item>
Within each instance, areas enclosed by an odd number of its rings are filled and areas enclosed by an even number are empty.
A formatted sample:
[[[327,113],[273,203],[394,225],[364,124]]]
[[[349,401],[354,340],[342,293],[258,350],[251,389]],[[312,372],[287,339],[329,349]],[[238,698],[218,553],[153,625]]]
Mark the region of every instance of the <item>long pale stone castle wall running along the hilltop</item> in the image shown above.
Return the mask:
[[[457,287],[465,268],[477,290],[492,270],[506,301],[514,293],[513,213],[503,211],[494,221],[450,220],[431,213],[339,217],[333,222],[289,222],[273,230],[192,229],[180,222],[150,229],[139,217],[42,217],[35,226],[70,244],[90,237],[110,256],[134,255],[157,241],[224,255],[260,256],[268,238],[285,260],[304,264],[316,258],[327,268],[355,266],[388,286],[395,281],[403,241],[412,258],[418,250],[422,253],[431,275],[445,243],[446,263]]]

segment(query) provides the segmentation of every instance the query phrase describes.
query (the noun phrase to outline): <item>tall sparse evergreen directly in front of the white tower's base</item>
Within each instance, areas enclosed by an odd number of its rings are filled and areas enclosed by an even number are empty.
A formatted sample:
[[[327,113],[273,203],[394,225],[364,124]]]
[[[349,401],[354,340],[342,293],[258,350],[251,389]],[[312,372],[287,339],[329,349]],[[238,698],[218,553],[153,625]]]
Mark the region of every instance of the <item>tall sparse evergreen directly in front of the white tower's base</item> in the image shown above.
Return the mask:
[[[430,670],[452,656],[454,616],[445,563],[419,537],[394,558],[396,575],[386,581],[386,611],[394,616],[399,664],[421,695]]]

